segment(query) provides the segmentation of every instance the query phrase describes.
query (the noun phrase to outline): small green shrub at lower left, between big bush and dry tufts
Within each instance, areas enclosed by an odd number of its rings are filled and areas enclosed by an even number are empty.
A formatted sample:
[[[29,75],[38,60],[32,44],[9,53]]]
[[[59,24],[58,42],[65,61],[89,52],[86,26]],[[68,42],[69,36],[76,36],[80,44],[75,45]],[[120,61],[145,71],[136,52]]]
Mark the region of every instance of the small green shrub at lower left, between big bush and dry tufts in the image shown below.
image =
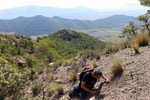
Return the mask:
[[[42,90],[42,82],[40,82],[40,81],[35,82],[32,86],[33,94],[37,95],[41,92],[41,90]]]

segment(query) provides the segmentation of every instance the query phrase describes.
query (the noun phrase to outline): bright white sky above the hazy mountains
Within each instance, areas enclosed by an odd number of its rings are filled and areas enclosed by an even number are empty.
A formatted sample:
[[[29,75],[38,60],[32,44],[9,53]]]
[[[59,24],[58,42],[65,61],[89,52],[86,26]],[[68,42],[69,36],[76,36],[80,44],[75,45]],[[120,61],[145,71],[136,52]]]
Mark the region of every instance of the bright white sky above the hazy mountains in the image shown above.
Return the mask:
[[[133,3],[140,5],[138,0],[0,0],[0,10],[27,5],[53,6],[59,8],[85,6],[88,8],[109,9]]]

